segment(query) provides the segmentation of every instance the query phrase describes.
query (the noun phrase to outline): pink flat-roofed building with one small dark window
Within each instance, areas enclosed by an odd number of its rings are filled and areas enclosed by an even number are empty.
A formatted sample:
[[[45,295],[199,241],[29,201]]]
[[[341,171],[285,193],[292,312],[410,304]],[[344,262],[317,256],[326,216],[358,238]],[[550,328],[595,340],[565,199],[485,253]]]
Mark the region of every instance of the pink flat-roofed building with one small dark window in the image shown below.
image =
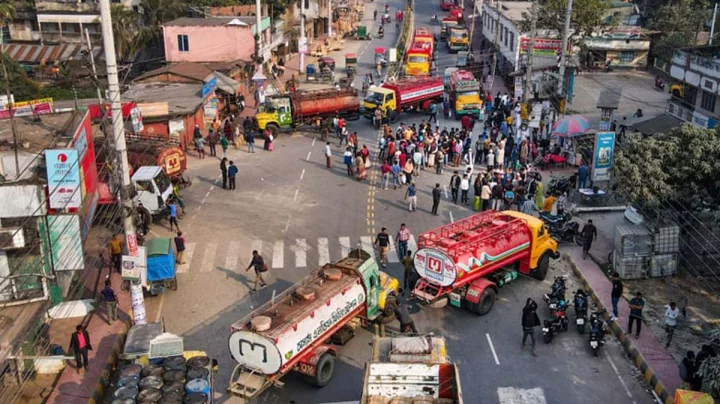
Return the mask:
[[[255,17],[213,17],[167,22],[163,25],[165,59],[172,63],[249,61],[255,53],[255,21]],[[269,20],[263,21],[267,24]]]

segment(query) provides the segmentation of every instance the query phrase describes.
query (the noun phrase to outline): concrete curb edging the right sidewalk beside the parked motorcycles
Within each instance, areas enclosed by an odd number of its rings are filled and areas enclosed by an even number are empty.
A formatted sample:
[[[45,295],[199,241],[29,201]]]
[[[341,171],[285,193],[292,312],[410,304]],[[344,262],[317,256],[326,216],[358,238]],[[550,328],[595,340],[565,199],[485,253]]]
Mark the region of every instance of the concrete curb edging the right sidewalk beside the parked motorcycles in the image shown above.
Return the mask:
[[[612,330],[615,337],[620,341],[620,344],[622,344],[623,348],[625,349],[625,352],[630,355],[630,357],[633,360],[633,363],[635,366],[642,372],[643,378],[646,382],[650,384],[652,389],[655,391],[655,394],[657,394],[658,397],[662,400],[665,404],[673,404],[675,402],[674,396],[670,394],[665,389],[665,385],[658,379],[658,377],[655,375],[655,372],[652,370],[652,368],[648,365],[648,363],[645,361],[645,357],[640,353],[640,351],[635,347],[635,345],[632,342],[632,339],[630,339],[625,331],[617,324],[617,321],[609,321],[610,320],[610,313],[611,310],[609,310],[605,305],[602,303],[602,301],[597,297],[595,294],[595,291],[590,287],[590,285],[585,280],[585,277],[583,276],[580,269],[578,269],[577,265],[575,265],[575,262],[567,255],[563,254],[562,258],[570,264],[570,267],[573,269],[573,272],[580,278],[583,288],[587,291],[590,291],[590,297],[593,299],[595,304],[602,308],[604,310],[603,317],[605,318],[605,322],[610,325],[610,329]]]

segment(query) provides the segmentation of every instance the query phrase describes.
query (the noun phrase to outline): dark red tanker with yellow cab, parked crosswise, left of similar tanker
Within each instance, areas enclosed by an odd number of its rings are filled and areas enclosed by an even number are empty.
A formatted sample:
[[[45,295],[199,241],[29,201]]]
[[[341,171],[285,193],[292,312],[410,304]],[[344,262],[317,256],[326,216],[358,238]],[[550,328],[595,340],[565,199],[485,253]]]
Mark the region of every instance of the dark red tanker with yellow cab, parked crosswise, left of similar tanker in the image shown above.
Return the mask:
[[[260,129],[269,129],[277,135],[280,130],[312,126],[318,119],[336,114],[357,118],[359,109],[357,90],[328,88],[267,97],[255,119]]]

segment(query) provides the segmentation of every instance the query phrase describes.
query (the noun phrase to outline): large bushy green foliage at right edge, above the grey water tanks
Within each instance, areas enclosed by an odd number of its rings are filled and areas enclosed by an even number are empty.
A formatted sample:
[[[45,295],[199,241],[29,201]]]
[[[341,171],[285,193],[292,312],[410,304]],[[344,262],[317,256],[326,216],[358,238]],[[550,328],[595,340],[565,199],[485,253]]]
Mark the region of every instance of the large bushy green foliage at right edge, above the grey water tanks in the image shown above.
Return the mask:
[[[685,124],[666,135],[628,139],[616,153],[615,174],[630,200],[648,211],[668,203],[720,209],[720,135]]]

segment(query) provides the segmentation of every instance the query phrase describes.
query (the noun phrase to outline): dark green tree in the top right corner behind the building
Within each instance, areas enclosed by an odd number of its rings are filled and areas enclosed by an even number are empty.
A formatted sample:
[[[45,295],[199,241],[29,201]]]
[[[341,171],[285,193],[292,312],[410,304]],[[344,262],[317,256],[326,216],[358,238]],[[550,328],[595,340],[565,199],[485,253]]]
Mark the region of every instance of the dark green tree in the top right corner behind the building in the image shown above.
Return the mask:
[[[662,62],[677,48],[695,45],[697,34],[711,18],[708,0],[672,0],[649,12],[648,28],[663,32],[653,54]]]

